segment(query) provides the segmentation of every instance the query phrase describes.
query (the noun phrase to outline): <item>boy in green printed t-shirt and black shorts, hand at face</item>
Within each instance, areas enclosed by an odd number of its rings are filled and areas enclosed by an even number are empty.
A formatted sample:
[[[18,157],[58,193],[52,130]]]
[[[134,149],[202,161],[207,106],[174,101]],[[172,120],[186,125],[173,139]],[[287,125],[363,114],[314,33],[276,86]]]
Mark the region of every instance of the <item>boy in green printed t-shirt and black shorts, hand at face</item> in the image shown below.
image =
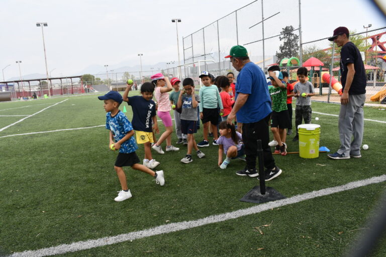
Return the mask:
[[[285,156],[287,154],[285,129],[289,126],[287,88],[286,84],[281,82],[283,75],[280,71],[269,72],[269,79],[272,84],[272,87],[269,88],[269,94],[272,99],[271,131],[274,139],[277,141],[275,153],[280,153],[282,156]]]

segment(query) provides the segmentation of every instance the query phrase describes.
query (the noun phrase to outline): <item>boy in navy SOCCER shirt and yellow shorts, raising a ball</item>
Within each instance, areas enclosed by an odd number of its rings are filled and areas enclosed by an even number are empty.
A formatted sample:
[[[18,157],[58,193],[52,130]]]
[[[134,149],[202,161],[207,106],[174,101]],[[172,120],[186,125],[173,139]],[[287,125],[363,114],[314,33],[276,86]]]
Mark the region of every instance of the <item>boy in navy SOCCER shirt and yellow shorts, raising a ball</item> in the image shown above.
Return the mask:
[[[142,96],[135,95],[128,97],[132,85],[127,85],[123,94],[123,100],[131,105],[133,110],[133,128],[136,131],[135,136],[138,144],[143,144],[145,149],[145,159],[143,165],[150,169],[154,169],[159,162],[153,159],[151,155],[151,143],[154,143],[152,123],[154,130],[158,134],[157,117],[155,116],[155,102],[152,100],[154,86],[150,82],[145,82],[141,86]]]

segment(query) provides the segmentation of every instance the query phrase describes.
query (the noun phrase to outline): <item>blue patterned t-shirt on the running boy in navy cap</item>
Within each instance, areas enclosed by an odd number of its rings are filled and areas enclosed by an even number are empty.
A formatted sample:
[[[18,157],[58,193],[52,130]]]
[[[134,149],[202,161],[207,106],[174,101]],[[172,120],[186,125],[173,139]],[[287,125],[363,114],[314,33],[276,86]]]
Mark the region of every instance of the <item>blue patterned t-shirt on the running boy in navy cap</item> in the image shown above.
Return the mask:
[[[106,113],[106,129],[113,133],[115,142],[118,142],[123,139],[128,132],[133,130],[133,126],[122,111],[119,111],[114,117],[111,116],[111,112],[109,111]],[[134,137],[131,137],[129,140],[123,142],[119,152],[128,154],[135,152],[137,149],[137,142],[135,142]]]

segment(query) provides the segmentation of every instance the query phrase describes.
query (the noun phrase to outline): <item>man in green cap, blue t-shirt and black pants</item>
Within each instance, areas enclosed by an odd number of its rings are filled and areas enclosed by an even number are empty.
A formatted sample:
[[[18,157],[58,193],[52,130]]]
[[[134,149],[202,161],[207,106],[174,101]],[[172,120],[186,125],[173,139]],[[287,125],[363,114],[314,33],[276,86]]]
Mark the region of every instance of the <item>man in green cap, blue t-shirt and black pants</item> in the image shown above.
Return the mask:
[[[261,140],[266,168],[265,180],[274,179],[281,174],[281,170],[275,165],[268,146],[268,121],[272,110],[264,72],[249,60],[248,52],[243,46],[232,47],[230,54],[225,58],[230,58],[233,67],[240,72],[236,83],[236,102],[227,119],[231,124],[237,116],[237,122],[243,123],[242,138],[247,165],[236,174],[258,176],[256,172],[257,140]]]

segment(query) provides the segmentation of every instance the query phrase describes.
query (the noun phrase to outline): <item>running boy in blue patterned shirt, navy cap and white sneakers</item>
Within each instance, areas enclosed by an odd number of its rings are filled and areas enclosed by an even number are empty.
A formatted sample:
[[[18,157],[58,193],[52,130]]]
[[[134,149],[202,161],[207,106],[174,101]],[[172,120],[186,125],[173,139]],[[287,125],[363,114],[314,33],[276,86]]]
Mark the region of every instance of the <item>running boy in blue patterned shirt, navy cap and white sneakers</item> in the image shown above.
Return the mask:
[[[115,150],[119,150],[117,160],[115,161],[114,169],[117,172],[122,190],[114,199],[117,202],[131,198],[131,192],[127,187],[126,175],[123,171],[123,166],[131,166],[134,170],[145,172],[155,178],[157,184],[163,186],[165,179],[163,171],[154,172],[149,168],[139,164],[139,158],[135,151],[138,149],[137,143],[133,137],[133,127],[126,115],[119,110],[119,105],[122,103],[122,96],[117,91],[110,91],[103,96],[98,96],[98,99],[104,100],[104,108],[106,114],[106,129],[110,130],[109,147],[114,145]],[[114,143],[115,141],[115,143]]]

